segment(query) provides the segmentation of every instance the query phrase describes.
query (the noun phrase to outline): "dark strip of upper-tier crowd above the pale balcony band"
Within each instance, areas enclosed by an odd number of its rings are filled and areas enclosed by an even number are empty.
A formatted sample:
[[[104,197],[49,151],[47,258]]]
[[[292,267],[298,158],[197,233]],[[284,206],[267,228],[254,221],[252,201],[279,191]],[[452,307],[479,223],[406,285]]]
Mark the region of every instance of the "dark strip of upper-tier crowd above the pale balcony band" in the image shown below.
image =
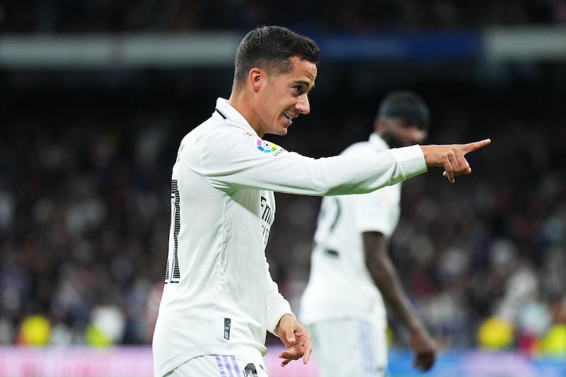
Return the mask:
[[[354,31],[483,28],[566,22],[566,0],[257,1],[6,0],[0,31],[32,33],[249,30],[258,24],[298,30]]]

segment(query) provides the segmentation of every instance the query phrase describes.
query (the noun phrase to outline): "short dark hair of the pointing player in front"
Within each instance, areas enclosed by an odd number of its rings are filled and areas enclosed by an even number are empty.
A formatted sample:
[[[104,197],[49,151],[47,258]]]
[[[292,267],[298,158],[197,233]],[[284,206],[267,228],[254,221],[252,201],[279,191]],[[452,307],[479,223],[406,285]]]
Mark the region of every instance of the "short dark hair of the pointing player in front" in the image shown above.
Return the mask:
[[[255,28],[238,45],[234,59],[234,85],[243,83],[254,67],[269,73],[287,73],[291,71],[291,57],[317,64],[320,49],[311,38],[281,26]]]

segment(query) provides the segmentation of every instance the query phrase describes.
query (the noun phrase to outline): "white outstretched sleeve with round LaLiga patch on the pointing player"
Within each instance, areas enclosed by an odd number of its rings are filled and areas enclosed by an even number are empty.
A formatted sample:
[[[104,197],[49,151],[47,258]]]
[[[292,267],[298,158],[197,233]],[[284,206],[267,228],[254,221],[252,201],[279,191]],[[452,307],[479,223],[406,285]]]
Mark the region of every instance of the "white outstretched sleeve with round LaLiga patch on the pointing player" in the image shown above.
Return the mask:
[[[200,149],[190,168],[214,187],[251,188],[298,195],[371,192],[427,171],[420,146],[362,156],[309,158],[224,124],[192,139]]]

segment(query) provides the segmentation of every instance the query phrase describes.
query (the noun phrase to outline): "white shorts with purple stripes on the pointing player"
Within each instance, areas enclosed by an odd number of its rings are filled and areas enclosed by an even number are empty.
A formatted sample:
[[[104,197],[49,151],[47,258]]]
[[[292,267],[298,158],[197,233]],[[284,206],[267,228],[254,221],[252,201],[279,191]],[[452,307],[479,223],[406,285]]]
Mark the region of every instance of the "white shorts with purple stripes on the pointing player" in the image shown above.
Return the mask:
[[[205,355],[181,364],[166,377],[267,377],[264,364],[241,356]]]

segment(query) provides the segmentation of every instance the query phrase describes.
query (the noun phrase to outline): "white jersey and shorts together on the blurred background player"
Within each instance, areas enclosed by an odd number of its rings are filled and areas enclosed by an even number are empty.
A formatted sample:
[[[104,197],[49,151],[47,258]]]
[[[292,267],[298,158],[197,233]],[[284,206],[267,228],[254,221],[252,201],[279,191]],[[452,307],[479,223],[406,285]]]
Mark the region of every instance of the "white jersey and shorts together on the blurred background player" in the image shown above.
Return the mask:
[[[364,156],[388,149],[378,134],[369,141],[348,147],[343,156]],[[366,268],[362,233],[377,231],[390,237],[400,215],[401,184],[383,187],[364,195],[324,197],[320,206],[311,255],[311,272],[301,297],[299,320],[313,337],[313,349],[321,376],[382,376],[387,359],[386,308],[379,289]],[[343,323],[343,325],[341,324]],[[328,333],[330,327],[352,328],[340,340]],[[347,354],[341,349],[352,344]],[[340,348],[339,348],[340,347]],[[325,349],[328,349],[325,351]],[[340,372],[340,371],[343,372]],[[345,375],[345,374],[344,374]]]

